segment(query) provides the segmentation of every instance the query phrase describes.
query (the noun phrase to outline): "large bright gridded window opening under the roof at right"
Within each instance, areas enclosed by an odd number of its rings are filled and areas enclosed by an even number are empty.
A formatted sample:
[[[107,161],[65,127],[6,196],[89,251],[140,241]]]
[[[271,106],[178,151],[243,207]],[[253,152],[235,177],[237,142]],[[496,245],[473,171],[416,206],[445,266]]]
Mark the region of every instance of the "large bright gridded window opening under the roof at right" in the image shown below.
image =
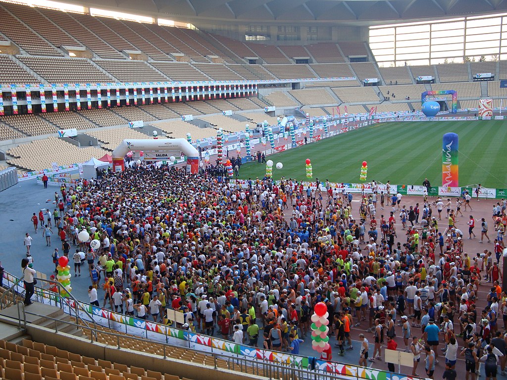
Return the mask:
[[[384,67],[504,59],[507,14],[371,26],[369,44]]]

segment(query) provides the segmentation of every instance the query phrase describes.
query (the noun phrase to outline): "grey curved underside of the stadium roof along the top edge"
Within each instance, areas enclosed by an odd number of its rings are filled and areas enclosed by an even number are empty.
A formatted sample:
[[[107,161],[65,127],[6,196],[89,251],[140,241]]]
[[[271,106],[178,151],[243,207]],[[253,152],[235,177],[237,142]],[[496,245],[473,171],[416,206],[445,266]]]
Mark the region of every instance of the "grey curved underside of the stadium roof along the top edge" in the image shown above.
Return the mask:
[[[507,0],[67,0],[176,21],[378,25],[507,11]],[[196,22],[197,21],[197,22]]]

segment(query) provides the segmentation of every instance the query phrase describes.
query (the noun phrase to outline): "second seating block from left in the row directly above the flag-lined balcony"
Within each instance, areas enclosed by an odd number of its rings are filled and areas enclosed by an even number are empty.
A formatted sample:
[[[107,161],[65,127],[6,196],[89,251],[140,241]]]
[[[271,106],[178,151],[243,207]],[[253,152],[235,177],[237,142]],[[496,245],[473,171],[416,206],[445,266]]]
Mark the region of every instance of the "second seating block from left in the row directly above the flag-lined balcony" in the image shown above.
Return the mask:
[[[18,57],[50,83],[100,83],[112,79],[83,58]]]

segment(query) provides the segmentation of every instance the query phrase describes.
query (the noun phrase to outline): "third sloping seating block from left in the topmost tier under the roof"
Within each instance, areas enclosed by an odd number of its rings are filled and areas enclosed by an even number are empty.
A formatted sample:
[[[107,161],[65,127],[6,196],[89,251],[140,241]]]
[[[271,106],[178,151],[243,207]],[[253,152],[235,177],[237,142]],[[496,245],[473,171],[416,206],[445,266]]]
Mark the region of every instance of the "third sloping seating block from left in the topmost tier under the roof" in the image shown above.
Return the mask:
[[[46,16],[47,19],[51,20],[51,22],[58,27],[65,30],[66,33],[73,36],[75,40],[81,42],[81,44],[90,49],[98,57],[104,59],[125,59],[123,54],[113,49],[111,45],[105,43],[90,29],[83,26],[81,22],[86,24],[89,22],[88,19],[90,16],[70,14],[43,8],[38,8],[37,11]]]

